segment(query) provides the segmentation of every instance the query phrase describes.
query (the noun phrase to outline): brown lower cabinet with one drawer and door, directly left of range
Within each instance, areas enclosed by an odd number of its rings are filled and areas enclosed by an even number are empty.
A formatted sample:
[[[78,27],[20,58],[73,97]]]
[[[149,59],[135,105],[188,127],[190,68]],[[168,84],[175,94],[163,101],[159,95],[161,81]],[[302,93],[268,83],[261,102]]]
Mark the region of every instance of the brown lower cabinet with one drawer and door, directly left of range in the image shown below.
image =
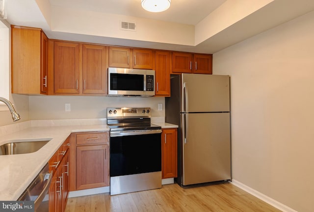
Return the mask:
[[[109,186],[109,133],[72,133],[70,164],[70,191]]]

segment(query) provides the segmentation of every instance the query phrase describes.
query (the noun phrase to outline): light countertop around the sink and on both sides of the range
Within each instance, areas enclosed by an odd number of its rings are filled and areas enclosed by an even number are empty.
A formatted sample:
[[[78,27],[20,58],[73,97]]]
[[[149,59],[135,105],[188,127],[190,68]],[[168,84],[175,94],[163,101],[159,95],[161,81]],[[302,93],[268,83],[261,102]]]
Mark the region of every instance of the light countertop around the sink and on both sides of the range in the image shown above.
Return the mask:
[[[157,122],[162,128],[177,125]],[[31,126],[0,136],[0,145],[10,140],[51,138],[40,150],[27,154],[0,155],[0,200],[17,200],[52,155],[72,132],[109,131],[106,124]]]

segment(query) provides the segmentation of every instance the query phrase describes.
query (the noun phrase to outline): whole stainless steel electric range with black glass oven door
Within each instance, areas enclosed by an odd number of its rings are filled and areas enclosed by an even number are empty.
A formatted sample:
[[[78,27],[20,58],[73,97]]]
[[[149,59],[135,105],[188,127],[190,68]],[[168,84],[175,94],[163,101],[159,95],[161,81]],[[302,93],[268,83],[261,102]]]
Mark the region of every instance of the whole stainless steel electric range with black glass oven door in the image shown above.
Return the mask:
[[[150,108],[107,108],[110,195],[161,188],[161,127]]]

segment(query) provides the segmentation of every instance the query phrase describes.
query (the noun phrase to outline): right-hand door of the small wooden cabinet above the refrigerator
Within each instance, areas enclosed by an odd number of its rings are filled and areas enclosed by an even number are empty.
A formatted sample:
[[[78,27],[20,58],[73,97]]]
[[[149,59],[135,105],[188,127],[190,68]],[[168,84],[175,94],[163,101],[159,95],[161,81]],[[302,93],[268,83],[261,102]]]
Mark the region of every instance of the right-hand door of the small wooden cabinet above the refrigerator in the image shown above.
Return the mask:
[[[212,73],[212,55],[194,54],[194,74]]]

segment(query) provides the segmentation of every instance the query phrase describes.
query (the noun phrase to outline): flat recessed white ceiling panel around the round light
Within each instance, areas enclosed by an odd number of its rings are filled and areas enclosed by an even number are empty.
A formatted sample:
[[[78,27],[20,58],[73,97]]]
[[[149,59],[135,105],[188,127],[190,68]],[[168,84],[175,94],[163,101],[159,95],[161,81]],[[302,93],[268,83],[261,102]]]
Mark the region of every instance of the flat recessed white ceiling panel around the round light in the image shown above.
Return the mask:
[[[141,0],[50,0],[51,5],[196,25],[226,0],[172,0],[164,12],[144,10]]]

